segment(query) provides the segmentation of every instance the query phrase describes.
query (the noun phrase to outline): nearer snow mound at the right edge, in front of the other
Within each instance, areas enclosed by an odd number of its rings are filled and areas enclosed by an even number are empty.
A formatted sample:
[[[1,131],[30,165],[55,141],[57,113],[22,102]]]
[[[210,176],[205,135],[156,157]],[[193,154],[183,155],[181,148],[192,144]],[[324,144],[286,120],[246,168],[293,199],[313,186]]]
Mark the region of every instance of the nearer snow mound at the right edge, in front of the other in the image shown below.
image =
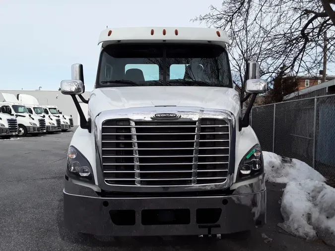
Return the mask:
[[[335,188],[313,180],[289,182],[280,211],[284,223],[278,226],[288,233],[335,246]]]

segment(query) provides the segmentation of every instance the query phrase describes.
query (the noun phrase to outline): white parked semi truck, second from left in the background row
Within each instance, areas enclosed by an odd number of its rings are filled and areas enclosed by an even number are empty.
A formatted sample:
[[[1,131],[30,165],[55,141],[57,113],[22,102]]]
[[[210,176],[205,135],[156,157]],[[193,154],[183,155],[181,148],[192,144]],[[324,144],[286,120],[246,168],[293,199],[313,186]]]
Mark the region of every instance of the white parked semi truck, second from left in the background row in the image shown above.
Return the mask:
[[[17,120],[17,135],[38,135],[47,131],[45,119],[28,113],[27,108],[18,102],[14,94],[1,93],[4,102],[0,102],[1,113],[14,116]]]

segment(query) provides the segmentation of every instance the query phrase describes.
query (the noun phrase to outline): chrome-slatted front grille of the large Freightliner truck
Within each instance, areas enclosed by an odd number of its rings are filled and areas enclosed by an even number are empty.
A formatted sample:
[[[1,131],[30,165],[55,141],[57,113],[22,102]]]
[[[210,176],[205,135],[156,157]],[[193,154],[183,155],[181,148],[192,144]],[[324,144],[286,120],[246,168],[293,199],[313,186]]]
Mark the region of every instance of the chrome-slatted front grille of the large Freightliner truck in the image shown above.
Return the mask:
[[[108,185],[196,186],[227,180],[227,120],[102,124],[102,168]]]

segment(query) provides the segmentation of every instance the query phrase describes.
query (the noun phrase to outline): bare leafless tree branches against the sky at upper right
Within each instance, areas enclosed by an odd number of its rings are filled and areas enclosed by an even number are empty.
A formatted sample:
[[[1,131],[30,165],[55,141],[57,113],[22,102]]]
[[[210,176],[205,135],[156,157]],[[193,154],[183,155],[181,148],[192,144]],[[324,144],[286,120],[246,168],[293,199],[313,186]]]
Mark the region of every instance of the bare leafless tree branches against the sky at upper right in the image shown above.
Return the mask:
[[[192,21],[227,31],[232,70],[240,76],[243,97],[248,61],[261,64],[261,77],[269,83],[284,64],[288,75],[316,75],[323,63],[325,31],[328,61],[335,62],[335,27],[325,6],[320,0],[224,0],[221,8],[211,5],[209,13]]]

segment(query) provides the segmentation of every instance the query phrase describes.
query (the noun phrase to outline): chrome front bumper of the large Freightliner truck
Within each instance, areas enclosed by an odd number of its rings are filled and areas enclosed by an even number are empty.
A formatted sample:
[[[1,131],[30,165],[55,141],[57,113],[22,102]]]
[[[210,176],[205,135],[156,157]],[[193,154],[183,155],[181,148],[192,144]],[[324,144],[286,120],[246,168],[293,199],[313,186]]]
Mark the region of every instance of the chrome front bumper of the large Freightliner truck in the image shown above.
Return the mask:
[[[266,223],[267,193],[264,181],[259,183],[257,192],[242,188],[222,196],[100,197],[91,188],[66,180],[63,190],[65,226],[75,232],[109,236],[246,231]],[[156,221],[158,217],[171,217],[171,212],[174,212],[171,219],[179,219],[178,222]]]

